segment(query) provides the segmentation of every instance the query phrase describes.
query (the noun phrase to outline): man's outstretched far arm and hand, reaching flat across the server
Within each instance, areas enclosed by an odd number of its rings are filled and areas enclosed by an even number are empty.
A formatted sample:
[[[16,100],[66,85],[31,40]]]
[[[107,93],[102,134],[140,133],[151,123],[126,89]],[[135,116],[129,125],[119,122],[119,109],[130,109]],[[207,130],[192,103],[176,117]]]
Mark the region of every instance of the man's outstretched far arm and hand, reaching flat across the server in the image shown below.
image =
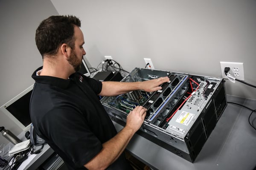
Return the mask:
[[[168,81],[170,81],[168,77],[160,77],[144,82],[102,82],[102,91],[99,95],[117,96],[134,90],[144,90],[147,92],[158,91],[161,89],[159,85]]]

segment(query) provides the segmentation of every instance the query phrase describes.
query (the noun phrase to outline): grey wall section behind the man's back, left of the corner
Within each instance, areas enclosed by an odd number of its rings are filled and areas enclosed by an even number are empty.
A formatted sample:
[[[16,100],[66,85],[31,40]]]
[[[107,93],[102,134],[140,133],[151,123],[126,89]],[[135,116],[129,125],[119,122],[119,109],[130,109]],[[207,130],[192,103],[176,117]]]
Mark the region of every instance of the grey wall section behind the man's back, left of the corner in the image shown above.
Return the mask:
[[[32,72],[42,65],[35,30],[50,15],[58,15],[50,0],[0,0],[0,106],[34,83]],[[2,112],[0,126],[21,132]],[[7,142],[0,135],[0,144]]]

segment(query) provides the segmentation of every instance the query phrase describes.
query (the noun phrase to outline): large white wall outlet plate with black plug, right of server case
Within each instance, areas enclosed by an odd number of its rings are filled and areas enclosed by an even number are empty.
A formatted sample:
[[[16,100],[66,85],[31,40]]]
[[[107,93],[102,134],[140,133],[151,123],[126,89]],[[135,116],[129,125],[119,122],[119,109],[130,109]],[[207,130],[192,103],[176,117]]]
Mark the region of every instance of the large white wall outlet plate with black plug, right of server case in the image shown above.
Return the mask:
[[[243,62],[220,62],[221,64],[221,74],[222,78],[227,79],[227,76],[224,73],[225,67],[229,67],[230,71],[228,75],[244,81],[244,63]]]

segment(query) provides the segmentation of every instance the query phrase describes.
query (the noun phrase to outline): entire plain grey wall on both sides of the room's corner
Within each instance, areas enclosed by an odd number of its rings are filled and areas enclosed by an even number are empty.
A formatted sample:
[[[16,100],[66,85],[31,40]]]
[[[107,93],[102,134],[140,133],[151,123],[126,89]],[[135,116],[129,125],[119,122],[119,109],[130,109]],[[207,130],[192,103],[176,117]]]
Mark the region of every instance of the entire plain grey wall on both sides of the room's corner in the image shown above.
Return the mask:
[[[131,71],[148,57],[156,69],[221,77],[220,61],[244,62],[246,82],[256,85],[255,9],[255,0],[0,0],[0,105],[33,84],[42,65],[35,29],[57,14],[81,18],[93,67],[110,55]],[[226,89],[256,99],[256,90],[239,82],[227,81]],[[3,113],[0,126],[21,131]]]

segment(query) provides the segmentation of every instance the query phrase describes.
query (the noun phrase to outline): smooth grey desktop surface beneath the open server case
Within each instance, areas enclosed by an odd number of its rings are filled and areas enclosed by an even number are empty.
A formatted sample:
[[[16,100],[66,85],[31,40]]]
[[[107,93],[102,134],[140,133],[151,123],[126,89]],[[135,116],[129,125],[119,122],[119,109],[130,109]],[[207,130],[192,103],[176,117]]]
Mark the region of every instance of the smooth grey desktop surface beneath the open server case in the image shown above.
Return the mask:
[[[256,109],[256,100],[227,96],[227,101]],[[249,125],[250,113],[246,108],[228,104],[194,163],[137,134],[127,149],[156,170],[253,170],[256,166],[256,130]],[[256,113],[250,120],[256,126]]]

